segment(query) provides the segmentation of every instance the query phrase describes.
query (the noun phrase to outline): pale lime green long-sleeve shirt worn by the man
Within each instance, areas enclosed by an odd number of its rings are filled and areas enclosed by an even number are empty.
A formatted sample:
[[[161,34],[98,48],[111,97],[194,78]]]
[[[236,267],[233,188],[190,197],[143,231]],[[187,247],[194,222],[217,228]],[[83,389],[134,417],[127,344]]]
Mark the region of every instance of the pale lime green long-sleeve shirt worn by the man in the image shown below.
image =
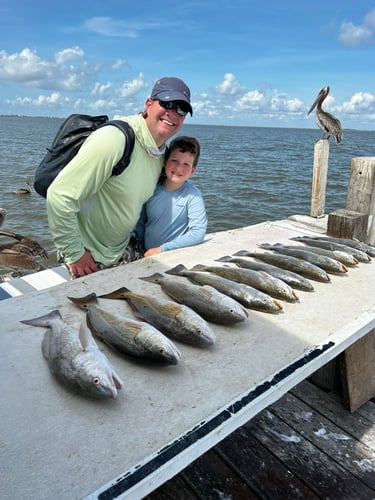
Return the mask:
[[[125,171],[112,176],[126,139],[117,127],[106,126],[88,137],[48,188],[50,232],[68,264],[85,249],[106,267],[116,264],[160,176],[164,151],[156,146],[142,115],[116,118],[130,123],[136,137]]]

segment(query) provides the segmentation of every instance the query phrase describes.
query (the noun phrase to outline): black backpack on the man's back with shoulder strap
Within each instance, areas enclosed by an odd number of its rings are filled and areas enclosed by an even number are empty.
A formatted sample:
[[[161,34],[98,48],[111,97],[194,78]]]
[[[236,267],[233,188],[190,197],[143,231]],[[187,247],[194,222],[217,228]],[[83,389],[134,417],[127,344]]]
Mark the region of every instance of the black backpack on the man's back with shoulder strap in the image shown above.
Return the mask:
[[[74,114],[68,116],[61,124],[48,153],[36,169],[34,189],[43,196],[47,196],[47,189],[57,174],[77,154],[87,137],[94,130],[105,125],[115,125],[122,130],[126,137],[124,154],[117,165],[113,167],[112,175],[120,175],[129,165],[130,156],[134,149],[134,130],[122,120],[108,121],[108,116],[90,116]]]

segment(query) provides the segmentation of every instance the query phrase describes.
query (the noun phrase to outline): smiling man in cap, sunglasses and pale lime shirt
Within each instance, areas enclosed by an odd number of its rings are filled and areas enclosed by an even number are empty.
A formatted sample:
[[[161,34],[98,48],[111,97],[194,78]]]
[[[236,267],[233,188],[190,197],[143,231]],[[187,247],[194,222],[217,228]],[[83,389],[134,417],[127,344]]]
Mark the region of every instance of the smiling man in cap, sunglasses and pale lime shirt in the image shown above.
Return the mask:
[[[99,128],[48,188],[47,214],[52,238],[73,277],[121,262],[144,202],[150,198],[164,162],[165,143],[193,114],[189,87],[179,78],[156,82],[145,110],[116,116],[135,132],[129,166],[112,168],[122,157],[124,134]]]

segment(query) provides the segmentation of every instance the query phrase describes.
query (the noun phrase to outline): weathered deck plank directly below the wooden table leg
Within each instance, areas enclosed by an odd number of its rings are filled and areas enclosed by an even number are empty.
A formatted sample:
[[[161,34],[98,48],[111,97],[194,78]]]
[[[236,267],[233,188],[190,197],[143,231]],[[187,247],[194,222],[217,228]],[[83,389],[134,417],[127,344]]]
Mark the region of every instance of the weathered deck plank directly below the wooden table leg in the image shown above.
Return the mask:
[[[345,432],[372,448],[375,453],[375,426],[374,422],[367,418],[371,411],[367,412],[368,415],[361,415],[359,412],[350,413],[339,398],[319,390],[307,381],[301,382],[290,392]],[[372,403],[369,405],[372,405],[375,417],[375,407]]]

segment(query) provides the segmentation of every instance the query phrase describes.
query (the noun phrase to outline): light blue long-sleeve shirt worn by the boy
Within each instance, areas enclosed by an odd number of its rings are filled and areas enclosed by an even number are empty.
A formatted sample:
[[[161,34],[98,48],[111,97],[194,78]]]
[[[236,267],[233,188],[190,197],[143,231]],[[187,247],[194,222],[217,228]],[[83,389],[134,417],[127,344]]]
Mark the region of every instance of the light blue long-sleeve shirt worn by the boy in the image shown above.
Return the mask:
[[[163,252],[201,243],[206,229],[203,197],[190,181],[177,191],[167,191],[159,183],[135,228],[145,250],[161,247]]]

